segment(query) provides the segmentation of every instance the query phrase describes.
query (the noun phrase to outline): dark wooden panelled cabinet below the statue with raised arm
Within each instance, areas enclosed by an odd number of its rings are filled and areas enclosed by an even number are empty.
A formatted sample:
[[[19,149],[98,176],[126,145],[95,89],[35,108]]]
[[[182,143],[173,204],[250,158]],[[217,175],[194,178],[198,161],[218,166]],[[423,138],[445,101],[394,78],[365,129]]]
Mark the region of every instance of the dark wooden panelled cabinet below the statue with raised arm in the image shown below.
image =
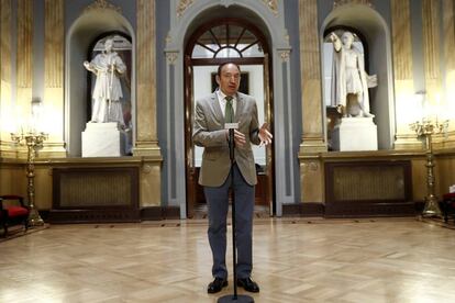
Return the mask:
[[[325,216],[415,214],[410,160],[325,162]]]

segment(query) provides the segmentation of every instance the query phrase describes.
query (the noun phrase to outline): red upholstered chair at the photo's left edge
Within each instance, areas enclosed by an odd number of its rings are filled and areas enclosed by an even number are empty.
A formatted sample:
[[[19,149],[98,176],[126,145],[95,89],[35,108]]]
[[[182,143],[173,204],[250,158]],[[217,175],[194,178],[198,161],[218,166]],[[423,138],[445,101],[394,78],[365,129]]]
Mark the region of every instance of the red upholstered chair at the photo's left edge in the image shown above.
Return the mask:
[[[3,237],[8,235],[8,227],[23,224],[25,231],[29,228],[29,207],[20,195],[0,195],[0,224],[3,227]]]

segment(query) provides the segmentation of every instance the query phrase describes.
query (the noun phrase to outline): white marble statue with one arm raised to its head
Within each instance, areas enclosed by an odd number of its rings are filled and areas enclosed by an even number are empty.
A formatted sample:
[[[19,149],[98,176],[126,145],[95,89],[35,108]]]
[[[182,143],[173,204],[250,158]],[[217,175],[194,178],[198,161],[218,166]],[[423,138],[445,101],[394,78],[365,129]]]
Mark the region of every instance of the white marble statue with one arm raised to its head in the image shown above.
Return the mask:
[[[330,34],[334,48],[332,100],[343,116],[374,116],[369,111],[368,88],[377,86],[376,75],[365,71],[364,54],[354,45],[354,34],[344,32],[341,38]]]

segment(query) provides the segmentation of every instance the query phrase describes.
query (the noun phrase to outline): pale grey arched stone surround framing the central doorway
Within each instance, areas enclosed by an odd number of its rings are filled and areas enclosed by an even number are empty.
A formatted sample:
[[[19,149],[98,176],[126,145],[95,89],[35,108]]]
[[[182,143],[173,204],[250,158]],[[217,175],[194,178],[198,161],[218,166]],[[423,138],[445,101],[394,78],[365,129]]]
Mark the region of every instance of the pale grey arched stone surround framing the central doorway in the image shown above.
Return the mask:
[[[177,206],[180,218],[187,217],[186,177],[185,177],[185,71],[184,57],[188,37],[198,24],[223,16],[248,16],[248,21],[257,24],[266,33],[269,43],[269,56],[273,64],[270,82],[274,88],[274,154],[275,154],[275,210],[276,216],[282,215],[282,206],[300,201],[299,162],[296,149],[300,144],[300,127],[289,113],[295,112],[296,102],[301,103],[301,96],[293,96],[291,87],[297,83],[296,68],[299,67],[299,52],[291,52],[290,37],[285,22],[285,3],[277,2],[270,10],[263,1],[200,0],[189,5],[181,16],[176,15],[180,1],[170,0],[167,16],[170,27],[166,36],[165,71],[163,81],[166,93],[163,100],[165,121],[163,127],[164,162],[163,162],[163,205]],[[293,75],[291,77],[291,75]],[[292,82],[292,83],[291,83]],[[158,103],[162,104],[162,103]],[[321,122],[322,123],[322,122]],[[290,146],[291,144],[292,146]],[[297,144],[297,145],[296,145]],[[296,184],[296,186],[295,186]]]

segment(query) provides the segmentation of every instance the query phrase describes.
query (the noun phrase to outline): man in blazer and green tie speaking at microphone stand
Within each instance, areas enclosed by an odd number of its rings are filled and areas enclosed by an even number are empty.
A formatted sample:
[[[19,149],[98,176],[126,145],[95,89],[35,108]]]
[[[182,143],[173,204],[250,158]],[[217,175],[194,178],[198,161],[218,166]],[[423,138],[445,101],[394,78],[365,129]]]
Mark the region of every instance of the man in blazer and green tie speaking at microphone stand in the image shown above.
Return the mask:
[[[238,123],[234,131],[235,162],[233,182],[235,194],[235,223],[237,247],[237,285],[246,291],[258,292],[259,287],[251,279],[253,269],[253,212],[254,186],[257,183],[251,143],[267,145],[271,134],[267,123],[258,126],[257,106],[253,97],[238,92],[241,70],[236,64],[219,66],[219,89],[196,105],[193,142],[204,147],[199,183],[204,188],[209,211],[209,243],[212,249],[214,280],[208,292],[217,293],[228,285],[226,217],[231,186],[229,132],[224,123]]]

